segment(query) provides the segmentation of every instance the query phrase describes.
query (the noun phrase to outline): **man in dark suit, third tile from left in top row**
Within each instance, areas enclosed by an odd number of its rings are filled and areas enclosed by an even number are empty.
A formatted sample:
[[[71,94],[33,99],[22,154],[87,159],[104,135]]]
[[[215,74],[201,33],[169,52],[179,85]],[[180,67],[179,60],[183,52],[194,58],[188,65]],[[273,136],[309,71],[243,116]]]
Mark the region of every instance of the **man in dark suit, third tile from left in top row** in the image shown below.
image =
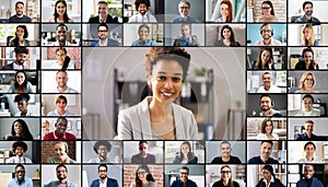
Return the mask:
[[[117,17],[112,17],[107,14],[108,3],[106,1],[99,1],[98,5],[98,15],[95,17],[90,17],[87,23],[118,23]]]

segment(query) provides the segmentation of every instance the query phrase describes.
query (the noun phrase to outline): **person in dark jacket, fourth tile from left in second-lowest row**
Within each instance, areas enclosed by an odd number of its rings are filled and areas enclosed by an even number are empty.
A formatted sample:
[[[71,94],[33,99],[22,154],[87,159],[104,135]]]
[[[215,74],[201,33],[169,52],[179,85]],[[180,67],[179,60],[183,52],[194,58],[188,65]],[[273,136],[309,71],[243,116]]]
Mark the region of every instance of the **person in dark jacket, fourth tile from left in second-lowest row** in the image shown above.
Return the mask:
[[[132,155],[132,164],[155,164],[155,155],[148,153],[148,142],[139,141],[139,153]]]

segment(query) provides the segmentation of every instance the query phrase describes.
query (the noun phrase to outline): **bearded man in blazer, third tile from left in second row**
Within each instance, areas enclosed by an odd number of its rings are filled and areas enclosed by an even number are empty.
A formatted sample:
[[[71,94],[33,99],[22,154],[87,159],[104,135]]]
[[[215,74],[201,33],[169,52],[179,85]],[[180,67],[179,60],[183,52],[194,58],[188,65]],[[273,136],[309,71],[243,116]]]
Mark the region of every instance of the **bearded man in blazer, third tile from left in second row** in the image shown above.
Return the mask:
[[[97,27],[97,32],[98,32],[99,39],[92,42],[91,46],[93,46],[93,47],[96,47],[96,46],[117,47],[118,46],[117,40],[108,38],[108,26],[106,23],[101,23]]]

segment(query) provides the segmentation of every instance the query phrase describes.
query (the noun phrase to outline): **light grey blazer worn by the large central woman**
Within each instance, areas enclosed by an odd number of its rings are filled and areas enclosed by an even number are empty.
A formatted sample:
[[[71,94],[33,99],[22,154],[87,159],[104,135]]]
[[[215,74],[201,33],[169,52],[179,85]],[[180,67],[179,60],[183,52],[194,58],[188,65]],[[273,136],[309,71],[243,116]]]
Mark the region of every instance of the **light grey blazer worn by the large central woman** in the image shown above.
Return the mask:
[[[145,97],[141,103],[121,110],[118,115],[118,138],[120,140],[153,140],[150,112]],[[198,140],[198,127],[190,110],[172,104],[174,114],[175,139]]]

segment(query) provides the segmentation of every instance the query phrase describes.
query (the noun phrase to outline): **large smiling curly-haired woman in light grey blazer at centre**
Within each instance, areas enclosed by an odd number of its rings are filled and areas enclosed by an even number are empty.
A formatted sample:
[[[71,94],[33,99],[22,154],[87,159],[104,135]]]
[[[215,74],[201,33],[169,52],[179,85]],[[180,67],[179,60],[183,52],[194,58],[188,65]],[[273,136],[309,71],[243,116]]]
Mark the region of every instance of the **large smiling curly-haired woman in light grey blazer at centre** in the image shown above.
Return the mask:
[[[174,104],[181,91],[189,62],[190,55],[184,48],[150,48],[144,65],[153,96],[119,113],[119,139],[198,140],[192,113]]]

